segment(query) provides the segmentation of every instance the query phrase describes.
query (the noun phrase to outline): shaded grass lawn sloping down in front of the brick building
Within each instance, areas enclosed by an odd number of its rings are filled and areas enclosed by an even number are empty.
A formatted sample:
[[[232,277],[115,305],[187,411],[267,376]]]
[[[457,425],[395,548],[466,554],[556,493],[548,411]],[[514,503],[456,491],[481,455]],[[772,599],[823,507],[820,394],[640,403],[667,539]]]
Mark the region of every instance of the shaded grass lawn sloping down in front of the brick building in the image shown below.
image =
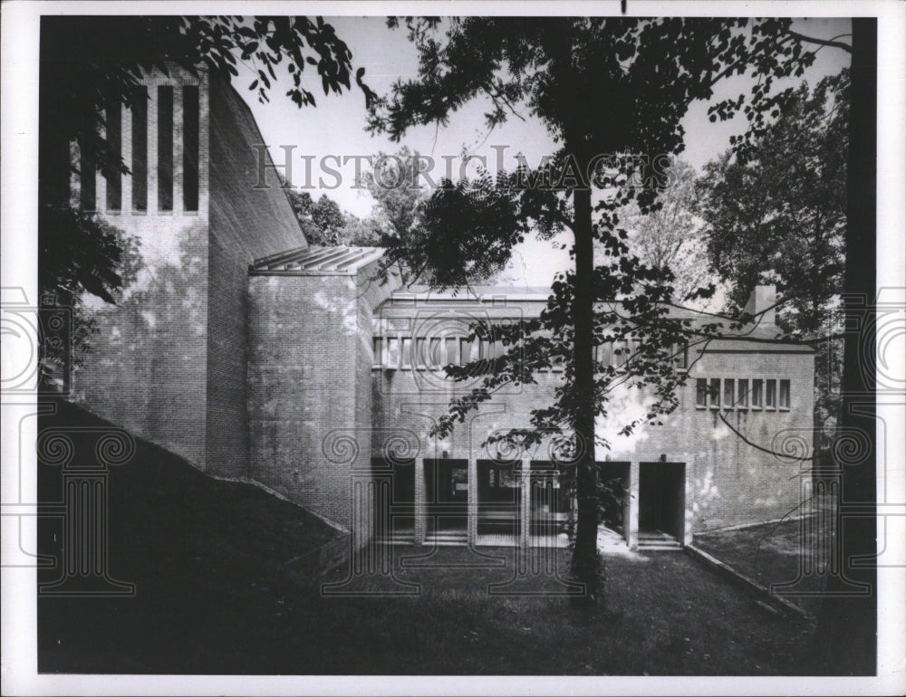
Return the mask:
[[[80,413],[63,418],[90,419]],[[44,423],[42,424],[44,425]],[[53,473],[43,473],[43,492]],[[382,548],[392,574],[299,580],[334,531],[147,444],[111,473],[110,569],[135,597],[38,602],[38,667],[72,673],[795,674],[811,625],[775,616],[677,552],[608,556],[606,606],[560,592],[568,550],[520,577],[515,549]],[[47,523],[40,532],[53,550]],[[529,559],[531,561],[531,559]],[[367,567],[366,567],[367,568]],[[531,570],[531,564],[529,564]],[[55,572],[41,572],[51,580]],[[509,583],[508,583],[509,582]],[[504,591],[494,595],[489,591]],[[418,589],[418,595],[386,591]],[[375,591],[382,591],[375,594]]]

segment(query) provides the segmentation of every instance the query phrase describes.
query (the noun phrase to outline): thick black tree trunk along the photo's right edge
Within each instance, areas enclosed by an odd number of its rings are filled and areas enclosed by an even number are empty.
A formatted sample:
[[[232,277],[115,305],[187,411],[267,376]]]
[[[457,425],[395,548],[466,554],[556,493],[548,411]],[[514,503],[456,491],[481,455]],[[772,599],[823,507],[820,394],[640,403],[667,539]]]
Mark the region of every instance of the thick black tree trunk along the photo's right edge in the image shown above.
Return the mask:
[[[815,654],[823,673],[874,674],[877,658],[877,570],[850,568],[877,554],[874,406],[876,312],[877,20],[853,19],[850,150],[847,161],[844,312],[849,329],[843,345],[842,408],[838,437],[856,437],[854,455],[836,449],[832,476],[841,482],[835,520],[839,573],[828,578],[815,631]],[[857,329],[856,329],[857,328]],[[857,587],[867,588],[855,595]],[[834,597],[834,594],[841,594]]]

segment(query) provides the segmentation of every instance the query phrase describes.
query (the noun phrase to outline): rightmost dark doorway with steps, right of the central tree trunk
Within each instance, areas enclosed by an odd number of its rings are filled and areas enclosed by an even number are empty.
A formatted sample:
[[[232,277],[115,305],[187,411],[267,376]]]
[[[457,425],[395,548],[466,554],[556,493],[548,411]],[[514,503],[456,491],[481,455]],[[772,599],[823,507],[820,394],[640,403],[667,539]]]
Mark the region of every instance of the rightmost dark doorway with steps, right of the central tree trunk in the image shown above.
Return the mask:
[[[683,541],[686,523],[685,463],[639,465],[639,534]]]

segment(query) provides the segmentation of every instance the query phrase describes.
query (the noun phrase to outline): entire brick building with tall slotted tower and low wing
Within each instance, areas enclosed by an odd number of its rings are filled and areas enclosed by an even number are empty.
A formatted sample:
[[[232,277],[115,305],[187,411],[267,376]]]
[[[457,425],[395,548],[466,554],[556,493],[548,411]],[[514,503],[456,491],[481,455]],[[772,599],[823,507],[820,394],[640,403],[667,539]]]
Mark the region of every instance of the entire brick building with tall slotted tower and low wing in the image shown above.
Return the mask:
[[[148,84],[147,105],[108,115],[132,176],[72,181],[82,208],[140,239],[143,263],[117,306],[92,304],[100,334],[73,399],[206,473],[269,487],[356,546],[562,535],[571,501],[550,444],[483,445],[527,425],[559,370],[502,390],[450,438],[429,435],[469,387],[441,366],[503,350],[467,341],[469,324],[536,317],[548,289],[405,288],[379,279],[380,249],[310,246],[284,192],[255,187],[262,138],[236,91],[178,70]],[[814,355],[776,340],[773,302],[759,287],[751,310],[766,311],[745,339],[679,359],[689,380],[664,425],[596,452],[602,477],[631,494],[609,519],[631,546],[682,544],[799,503],[801,461],[766,451],[810,454]],[[599,359],[627,348],[599,347]],[[602,432],[640,398],[618,396]]]

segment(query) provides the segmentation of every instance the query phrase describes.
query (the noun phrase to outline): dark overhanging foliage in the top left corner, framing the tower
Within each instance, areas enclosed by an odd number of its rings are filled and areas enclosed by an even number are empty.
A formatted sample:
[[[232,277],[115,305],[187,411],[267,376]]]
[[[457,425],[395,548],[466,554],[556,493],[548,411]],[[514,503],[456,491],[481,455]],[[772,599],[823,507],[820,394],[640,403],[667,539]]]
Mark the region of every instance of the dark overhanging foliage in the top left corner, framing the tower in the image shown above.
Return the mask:
[[[230,81],[237,61],[252,61],[257,74],[248,86],[259,100],[268,99],[275,66],[284,65],[293,76],[286,96],[300,107],[315,103],[302,81],[306,66],[325,94],[352,83],[352,53],[321,17],[45,16],[41,47],[38,279],[42,292],[59,291],[61,300],[73,303],[73,326],[85,339],[91,327],[83,324],[79,296],[113,302],[134,241],[72,208],[72,142],[105,176],[129,174],[103,136],[105,111],[147,99],[142,76],[155,69],[169,74],[172,64]],[[354,79],[367,102],[372,92],[363,73],[358,69]]]

